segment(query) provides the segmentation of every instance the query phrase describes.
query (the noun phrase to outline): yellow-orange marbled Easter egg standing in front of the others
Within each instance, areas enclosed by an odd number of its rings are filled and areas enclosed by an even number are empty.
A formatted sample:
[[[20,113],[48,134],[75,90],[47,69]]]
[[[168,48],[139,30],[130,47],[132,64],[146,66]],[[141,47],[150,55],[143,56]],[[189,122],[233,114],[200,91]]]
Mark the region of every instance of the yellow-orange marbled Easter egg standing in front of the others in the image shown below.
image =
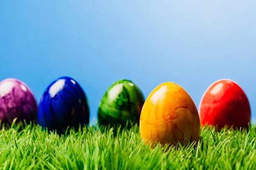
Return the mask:
[[[145,100],[140,115],[140,135],[151,147],[198,142],[200,120],[189,94],[174,82],[158,85]]]

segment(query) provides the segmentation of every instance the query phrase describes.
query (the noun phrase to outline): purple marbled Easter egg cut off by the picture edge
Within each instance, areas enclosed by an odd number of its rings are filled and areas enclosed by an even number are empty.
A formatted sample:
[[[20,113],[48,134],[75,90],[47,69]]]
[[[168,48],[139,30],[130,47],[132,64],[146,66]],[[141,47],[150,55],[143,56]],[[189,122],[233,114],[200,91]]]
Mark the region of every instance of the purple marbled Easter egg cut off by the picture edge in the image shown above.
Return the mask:
[[[0,82],[0,120],[10,124],[16,122],[36,122],[38,104],[34,94],[20,80],[5,79]]]

